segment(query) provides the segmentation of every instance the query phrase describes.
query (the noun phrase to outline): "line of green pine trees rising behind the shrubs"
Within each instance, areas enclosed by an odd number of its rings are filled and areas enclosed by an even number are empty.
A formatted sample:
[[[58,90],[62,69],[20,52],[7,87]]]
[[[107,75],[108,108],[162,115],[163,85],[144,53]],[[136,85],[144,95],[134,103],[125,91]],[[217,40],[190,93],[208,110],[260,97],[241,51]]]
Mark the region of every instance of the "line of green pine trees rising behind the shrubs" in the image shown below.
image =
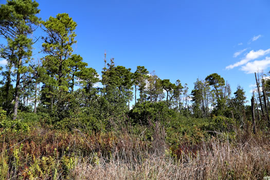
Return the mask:
[[[0,105],[7,115],[13,114],[13,119],[18,111],[48,113],[54,121],[72,118],[78,112],[108,119],[127,113],[133,99],[134,111],[139,106],[163,102],[175,112],[195,117],[223,115],[243,120],[243,111],[251,116],[243,88],[238,86],[232,96],[230,85],[216,73],[205,80],[197,79],[189,94],[187,84],[183,86],[179,79],[175,83],[160,79],[144,66],[132,72],[115,66],[114,59],[107,62],[105,53],[99,77],[80,55],[73,53],[77,24],[67,13],[42,21],[37,16],[38,3],[32,1],[8,1],[0,10],[0,32],[6,40],[1,45],[1,58],[7,61],[1,71]],[[44,33],[33,38],[37,28]],[[32,57],[37,41],[42,41],[41,59]],[[256,112],[258,117],[266,118],[270,83],[263,78],[258,81],[263,94],[258,97]],[[96,87],[98,82],[103,87]]]

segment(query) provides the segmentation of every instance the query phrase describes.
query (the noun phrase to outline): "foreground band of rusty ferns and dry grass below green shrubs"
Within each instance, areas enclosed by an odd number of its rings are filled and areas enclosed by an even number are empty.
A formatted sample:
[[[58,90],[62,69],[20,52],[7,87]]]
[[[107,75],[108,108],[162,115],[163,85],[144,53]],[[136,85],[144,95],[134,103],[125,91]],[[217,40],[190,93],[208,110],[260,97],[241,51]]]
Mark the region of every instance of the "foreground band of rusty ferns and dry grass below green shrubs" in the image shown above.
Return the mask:
[[[153,138],[127,130],[85,134],[45,128],[6,132],[0,139],[1,179],[263,179],[270,175],[270,138],[236,131],[196,144],[166,143],[152,124]]]

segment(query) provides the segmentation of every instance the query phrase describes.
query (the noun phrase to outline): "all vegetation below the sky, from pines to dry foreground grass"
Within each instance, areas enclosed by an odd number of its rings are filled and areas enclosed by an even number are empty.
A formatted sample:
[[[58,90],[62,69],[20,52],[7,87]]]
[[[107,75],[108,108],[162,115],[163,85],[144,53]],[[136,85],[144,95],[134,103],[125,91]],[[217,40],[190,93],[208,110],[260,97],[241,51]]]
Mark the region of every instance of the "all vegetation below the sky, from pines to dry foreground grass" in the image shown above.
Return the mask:
[[[8,0],[0,7],[0,57],[7,62],[0,67],[1,179],[258,179],[270,173],[270,72],[255,73],[250,100],[240,85],[231,92],[217,73],[196,79],[189,93],[185,77],[171,82],[145,66],[132,71],[106,53],[99,75],[73,53],[76,22],[67,13],[41,20],[38,6]],[[33,56],[35,43],[42,43],[41,59]]]

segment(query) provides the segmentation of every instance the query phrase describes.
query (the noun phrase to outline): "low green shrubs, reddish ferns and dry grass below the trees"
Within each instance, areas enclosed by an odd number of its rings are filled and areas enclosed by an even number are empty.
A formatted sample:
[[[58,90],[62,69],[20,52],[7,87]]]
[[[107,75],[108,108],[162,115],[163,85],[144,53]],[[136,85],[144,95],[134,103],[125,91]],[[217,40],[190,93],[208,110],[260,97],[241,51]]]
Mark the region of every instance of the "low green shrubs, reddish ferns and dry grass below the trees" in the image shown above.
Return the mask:
[[[44,115],[1,116],[2,179],[262,179],[270,174],[267,131],[222,116],[110,129],[53,127]],[[69,121],[72,121],[71,119]]]

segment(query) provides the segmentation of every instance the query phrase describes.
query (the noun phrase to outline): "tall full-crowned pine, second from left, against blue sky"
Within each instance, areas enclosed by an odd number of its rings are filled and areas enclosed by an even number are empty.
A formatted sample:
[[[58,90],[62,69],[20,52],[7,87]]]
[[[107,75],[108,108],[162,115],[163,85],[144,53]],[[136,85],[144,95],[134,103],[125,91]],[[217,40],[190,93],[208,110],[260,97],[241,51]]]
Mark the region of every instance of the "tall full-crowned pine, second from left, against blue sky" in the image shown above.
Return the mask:
[[[43,67],[46,69],[46,75],[44,75],[46,81],[43,85],[43,93],[46,95],[43,97],[50,96],[51,109],[53,102],[56,101],[61,111],[68,92],[71,62],[74,60],[71,53],[73,52],[72,45],[76,43],[74,30],[77,24],[67,13],[49,17],[49,20],[42,21],[42,24],[47,34],[46,37],[42,37],[44,41],[42,50],[47,53],[47,56],[43,58]]]

